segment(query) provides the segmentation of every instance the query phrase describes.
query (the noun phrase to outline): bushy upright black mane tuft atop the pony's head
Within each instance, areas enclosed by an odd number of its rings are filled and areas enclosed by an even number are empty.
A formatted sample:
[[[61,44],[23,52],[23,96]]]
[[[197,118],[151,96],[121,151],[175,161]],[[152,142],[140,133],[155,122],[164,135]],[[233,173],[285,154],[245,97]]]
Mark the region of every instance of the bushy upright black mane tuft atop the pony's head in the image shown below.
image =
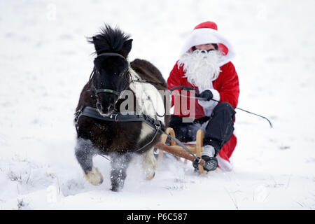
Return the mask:
[[[123,48],[123,44],[130,38],[128,34],[125,34],[118,27],[115,29],[109,25],[101,28],[101,31],[96,36],[87,38],[89,43],[94,44],[97,55],[104,52],[120,52]]]

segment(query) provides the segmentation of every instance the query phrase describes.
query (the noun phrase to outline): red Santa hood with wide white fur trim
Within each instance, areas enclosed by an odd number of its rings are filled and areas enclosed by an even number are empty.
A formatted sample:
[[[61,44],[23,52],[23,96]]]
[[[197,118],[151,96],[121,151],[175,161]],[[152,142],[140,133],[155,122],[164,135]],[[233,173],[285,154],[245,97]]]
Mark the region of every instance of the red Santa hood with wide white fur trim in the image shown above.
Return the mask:
[[[223,57],[221,58],[219,65],[227,64],[235,57],[235,50],[232,45],[222,34],[218,33],[218,26],[215,22],[202,22],[197,25],[195,29],[190,33],[186,39],[183,48],[181,50],[181,55],[186,53],[190,48],[195,45],[206,44],[206,43],[216,43],[218,44],[218,50],[223,52]]]

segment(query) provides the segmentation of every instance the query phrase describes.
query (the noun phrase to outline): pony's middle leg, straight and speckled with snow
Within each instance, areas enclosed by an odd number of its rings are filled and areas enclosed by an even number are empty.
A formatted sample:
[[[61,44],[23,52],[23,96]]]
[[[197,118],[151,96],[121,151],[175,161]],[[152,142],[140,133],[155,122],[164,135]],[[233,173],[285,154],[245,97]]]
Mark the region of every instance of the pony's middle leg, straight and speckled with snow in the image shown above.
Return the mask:
[[[131,160],[132,153],[111,156],[111,190],[118,191],[123,188],[126,170]]]

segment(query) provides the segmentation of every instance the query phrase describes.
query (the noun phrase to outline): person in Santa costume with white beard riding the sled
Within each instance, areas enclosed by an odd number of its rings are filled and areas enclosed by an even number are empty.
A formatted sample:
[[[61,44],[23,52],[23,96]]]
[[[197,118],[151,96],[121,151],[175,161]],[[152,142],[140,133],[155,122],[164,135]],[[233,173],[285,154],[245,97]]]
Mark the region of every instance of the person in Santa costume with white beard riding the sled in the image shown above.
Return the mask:
[[[175,106],[169,127],[185,142],[195,141],[197,130],[204,130],[202,158],[211,160],[205,167],[208,171],[217,166],[232,170],[229,159],[237,145],[234,108],[239,98],[239,79],[231,62],[234,56],[232,45],[218,32],[216,23],[202,22],[188,36],[167,79],[169,90],[181,85],[193,87],[200,92],[197,97],[207,99],[195,99],[179,88],[179,94],[172,94]],[[188,97],[182,97],[185,94]]]

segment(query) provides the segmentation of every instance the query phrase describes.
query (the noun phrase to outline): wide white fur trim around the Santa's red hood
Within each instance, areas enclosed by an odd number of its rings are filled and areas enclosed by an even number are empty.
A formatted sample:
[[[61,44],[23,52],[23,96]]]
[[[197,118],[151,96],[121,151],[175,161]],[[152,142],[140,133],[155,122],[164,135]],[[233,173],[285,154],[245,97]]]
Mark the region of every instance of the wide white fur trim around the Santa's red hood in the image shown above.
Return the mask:
[[[186,39],[183,48],[181,49],[181,55],[186,53],[190,48],[195,45],[206,44],[206,43],[223,43],[228,48],[228,54],[221,57],[219,66],[223,66],[231,61],[235,57],[235,50],[231,43],[223,35],[219,34],[216,29],[194,29],[188,38]],[[180,56],[181,56],[180,55]]]

